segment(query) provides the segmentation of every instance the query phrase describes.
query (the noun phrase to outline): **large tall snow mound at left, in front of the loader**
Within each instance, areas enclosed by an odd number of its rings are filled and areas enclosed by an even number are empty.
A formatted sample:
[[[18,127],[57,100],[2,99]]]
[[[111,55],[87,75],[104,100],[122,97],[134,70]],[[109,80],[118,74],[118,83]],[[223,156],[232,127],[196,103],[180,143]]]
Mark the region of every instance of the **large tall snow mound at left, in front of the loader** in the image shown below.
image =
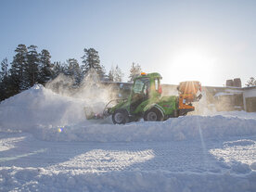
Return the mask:
[[[63,126],[84,120],[83,100],[59,96],[41,84],[0,104],[0,129],[31,130],[36,126]]]

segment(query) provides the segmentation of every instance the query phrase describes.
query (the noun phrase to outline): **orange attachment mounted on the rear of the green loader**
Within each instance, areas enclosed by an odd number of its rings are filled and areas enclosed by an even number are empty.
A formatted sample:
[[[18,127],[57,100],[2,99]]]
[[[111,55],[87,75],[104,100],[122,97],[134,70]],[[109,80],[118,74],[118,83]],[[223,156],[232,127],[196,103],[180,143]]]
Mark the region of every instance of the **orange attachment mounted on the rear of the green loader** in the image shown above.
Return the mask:
[[[193,82],[182,82],[177,87],[179,91],[179,109],[183,111],[193,111],[195,107],[192,106],[191,102],[198,101],[202,95],[201,83]]]

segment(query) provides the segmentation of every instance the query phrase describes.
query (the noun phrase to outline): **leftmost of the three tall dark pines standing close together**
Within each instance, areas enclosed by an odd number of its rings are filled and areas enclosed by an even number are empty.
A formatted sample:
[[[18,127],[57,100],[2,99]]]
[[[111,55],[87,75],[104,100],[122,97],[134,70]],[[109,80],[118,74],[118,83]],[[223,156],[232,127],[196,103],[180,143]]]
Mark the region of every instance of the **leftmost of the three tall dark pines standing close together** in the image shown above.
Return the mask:
[[[23,84],[25,82],[24,78],[24,70],[27,65],[27,47],[26,45],[18,45],[15,49],[16,55],[13,58],[11,63],[11,90],[13,91],[13,95],[18,94],[21,90],[23,90]]]

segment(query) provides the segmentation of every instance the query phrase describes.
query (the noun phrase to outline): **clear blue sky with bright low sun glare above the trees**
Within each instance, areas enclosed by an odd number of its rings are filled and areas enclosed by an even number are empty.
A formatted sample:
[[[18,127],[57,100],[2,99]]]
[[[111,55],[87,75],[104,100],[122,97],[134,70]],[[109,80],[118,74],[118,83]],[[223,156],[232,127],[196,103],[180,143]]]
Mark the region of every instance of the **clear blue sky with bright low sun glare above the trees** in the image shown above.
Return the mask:
[[[19,44],[48,49],[52,61],[94,47],[106,70],[132,62],[163,83],[222,86],[256,76],[256,1],[1,0],[0,59]]]

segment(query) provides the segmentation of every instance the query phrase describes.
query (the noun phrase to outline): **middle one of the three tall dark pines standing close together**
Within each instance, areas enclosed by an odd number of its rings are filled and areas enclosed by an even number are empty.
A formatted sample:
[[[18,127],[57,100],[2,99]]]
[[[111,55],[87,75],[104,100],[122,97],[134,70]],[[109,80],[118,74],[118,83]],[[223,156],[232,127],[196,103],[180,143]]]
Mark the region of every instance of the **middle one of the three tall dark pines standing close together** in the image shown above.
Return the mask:
[[[39,79],[39,54],[36,51],[36,45],[30,45],[28,47],[27,65],[25,65],[25,89],[32,87],[35,83],[38,83]]]

